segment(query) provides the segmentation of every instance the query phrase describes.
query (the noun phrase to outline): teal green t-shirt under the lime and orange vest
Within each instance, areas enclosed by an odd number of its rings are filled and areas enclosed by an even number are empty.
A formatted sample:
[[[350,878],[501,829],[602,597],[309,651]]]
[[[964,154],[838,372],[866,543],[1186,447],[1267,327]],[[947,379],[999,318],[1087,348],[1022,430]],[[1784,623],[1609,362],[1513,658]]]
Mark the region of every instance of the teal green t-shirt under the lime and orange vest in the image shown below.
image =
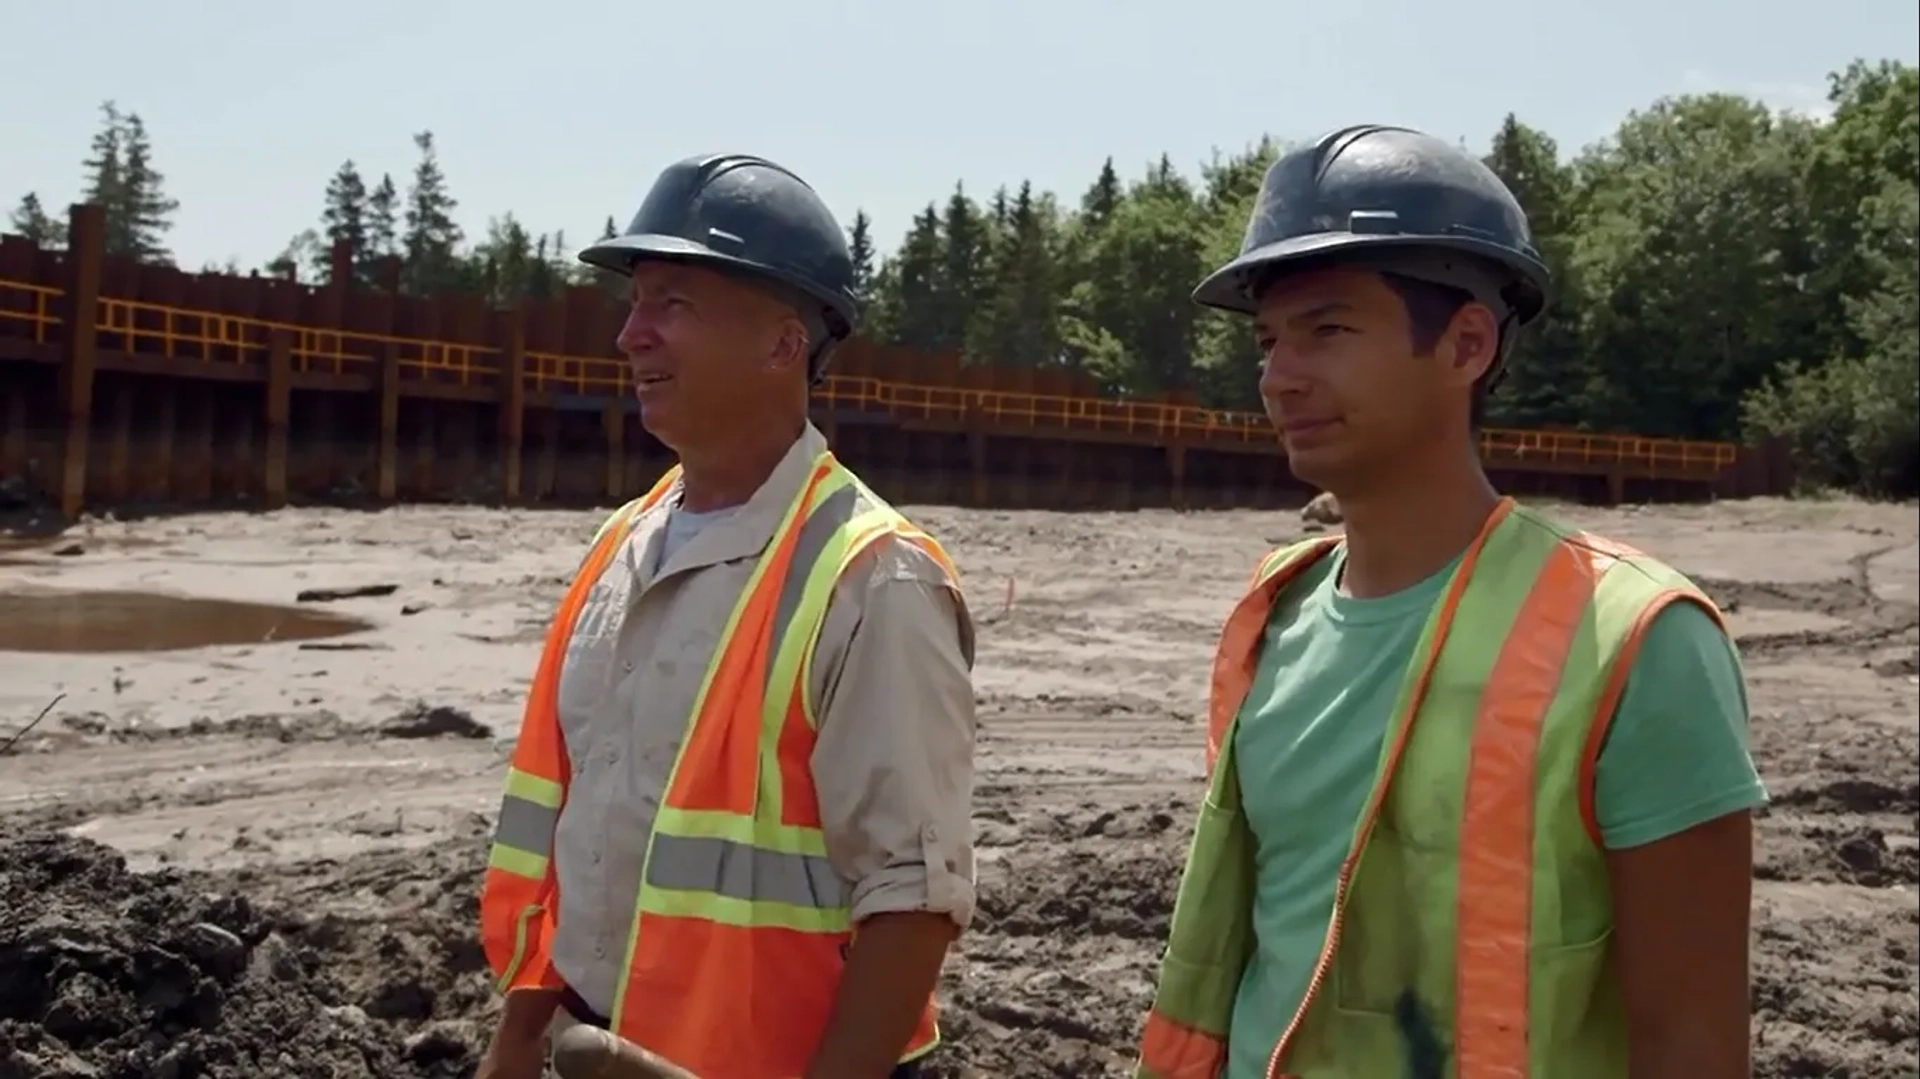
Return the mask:
[[[1273,605],[1235,731],[1258,895],[1225,1079],[1265,1075],[1306,993],[1400,683],[1453,572],[1354,599],[1336,587],[1344,559],[1338,547]],[[1747,751],[1740,657],[1699,607],[1674,603],[1647,628],[1594,785],[1594,814],[1615,851],[1764,804]]]

